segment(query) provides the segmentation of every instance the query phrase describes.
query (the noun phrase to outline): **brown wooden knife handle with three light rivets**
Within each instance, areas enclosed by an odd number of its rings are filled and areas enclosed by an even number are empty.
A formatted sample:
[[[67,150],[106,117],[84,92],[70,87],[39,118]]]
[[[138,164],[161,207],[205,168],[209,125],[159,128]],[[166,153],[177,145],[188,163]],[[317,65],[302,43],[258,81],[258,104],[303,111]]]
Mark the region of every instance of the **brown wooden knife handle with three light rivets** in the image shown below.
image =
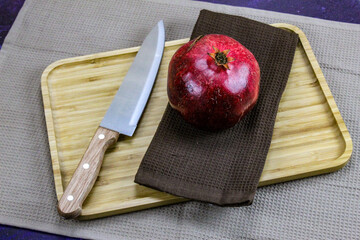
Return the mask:
[[[99,127],[77,166],[70,183],[58,203],[58,212],[65,218],[81,214],[82,204],[99,175],[104,153],[119,138],[119,133]]]

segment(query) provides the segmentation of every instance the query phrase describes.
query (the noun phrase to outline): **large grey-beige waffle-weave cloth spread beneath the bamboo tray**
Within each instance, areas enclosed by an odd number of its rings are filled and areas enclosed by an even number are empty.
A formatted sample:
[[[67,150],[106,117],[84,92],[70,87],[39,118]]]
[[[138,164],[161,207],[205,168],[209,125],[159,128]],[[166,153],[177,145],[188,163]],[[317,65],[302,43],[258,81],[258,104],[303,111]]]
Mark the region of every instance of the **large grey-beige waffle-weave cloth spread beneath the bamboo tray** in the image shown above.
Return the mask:
[[[350,162],[332,174],[259,188],[246,208],[193,201],[85,222],[60,218],[42,71],[62,58],[138,46],[160,19],[167,40],[188,37],[203,8],[305,32],[352,136]],[[359,25],[198,2],[26,0],[0,50],[0,223],[92,239],[357,239],[359,39]]]

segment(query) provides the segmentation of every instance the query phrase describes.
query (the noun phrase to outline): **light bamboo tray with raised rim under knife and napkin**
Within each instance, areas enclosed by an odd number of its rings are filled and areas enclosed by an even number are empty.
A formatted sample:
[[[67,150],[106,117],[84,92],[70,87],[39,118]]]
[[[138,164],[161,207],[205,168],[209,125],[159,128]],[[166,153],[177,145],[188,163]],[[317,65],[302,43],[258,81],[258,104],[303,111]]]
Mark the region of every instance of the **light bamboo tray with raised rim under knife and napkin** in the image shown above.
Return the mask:
[[[328,173],[343,167],[352,141],[304,33],[282,96],[260,186]],[[133,137],[120,136],[105,155],[100,175],[80,219],[92,219],[186,201],[133,182],[137,168],[167,105],[167,68],[188,39],[165,44],[148,105]],[[42,75],[57,198],[60,199],[99,126],[138,47],[64,59]],[[55,207],[55,206],[54,206]]]

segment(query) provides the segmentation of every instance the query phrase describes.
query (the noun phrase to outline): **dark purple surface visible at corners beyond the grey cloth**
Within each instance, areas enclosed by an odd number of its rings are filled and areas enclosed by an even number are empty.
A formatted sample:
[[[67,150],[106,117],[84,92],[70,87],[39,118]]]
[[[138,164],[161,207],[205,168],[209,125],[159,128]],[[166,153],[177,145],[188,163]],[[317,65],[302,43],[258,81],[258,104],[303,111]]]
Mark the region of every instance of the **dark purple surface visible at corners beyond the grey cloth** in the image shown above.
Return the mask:
[[[25,0],[0,0],[0,48]],[[360,23],[360,0],[200,0],[327,20]],[[0,239],[76,239],[0,224]]]

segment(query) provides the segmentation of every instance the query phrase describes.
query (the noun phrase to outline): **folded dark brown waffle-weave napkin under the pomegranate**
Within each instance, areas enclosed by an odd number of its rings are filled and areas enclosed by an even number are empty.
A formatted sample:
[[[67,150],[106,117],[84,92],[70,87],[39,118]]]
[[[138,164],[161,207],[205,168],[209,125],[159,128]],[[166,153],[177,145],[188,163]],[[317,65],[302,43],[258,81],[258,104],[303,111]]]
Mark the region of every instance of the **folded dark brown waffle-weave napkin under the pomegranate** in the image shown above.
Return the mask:
[[[297,34],[247,18],[202,10],[191,39],[225,34],[248,48],[260,65],[256,106],[234,127],[199,130],[167,106],[135,182],[218,205],[250,205],[264,167]]]

